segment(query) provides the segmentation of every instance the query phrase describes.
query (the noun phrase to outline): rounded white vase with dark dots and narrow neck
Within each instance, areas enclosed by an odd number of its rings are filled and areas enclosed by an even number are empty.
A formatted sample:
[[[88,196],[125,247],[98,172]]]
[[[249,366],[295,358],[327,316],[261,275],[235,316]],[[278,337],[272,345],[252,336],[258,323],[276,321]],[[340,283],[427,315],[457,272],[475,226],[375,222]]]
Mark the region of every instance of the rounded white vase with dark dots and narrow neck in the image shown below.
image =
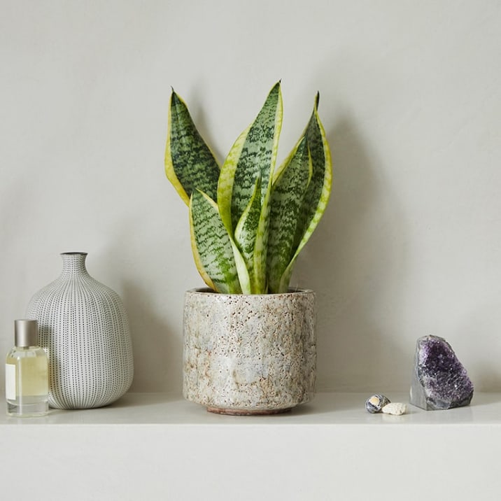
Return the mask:
[[[31,298],[49,359],[49,404],[102,407],[120,398],[134,376],[127,313],[116,292],[94,280],[86,253],[62,254],[62,274]]]

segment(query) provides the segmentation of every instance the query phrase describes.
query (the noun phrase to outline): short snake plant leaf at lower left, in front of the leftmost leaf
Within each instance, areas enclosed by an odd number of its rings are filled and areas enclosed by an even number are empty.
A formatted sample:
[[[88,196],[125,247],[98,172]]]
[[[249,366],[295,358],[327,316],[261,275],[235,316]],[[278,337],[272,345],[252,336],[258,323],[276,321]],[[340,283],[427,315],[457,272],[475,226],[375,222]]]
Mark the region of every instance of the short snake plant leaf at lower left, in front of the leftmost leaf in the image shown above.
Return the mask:
[[[194,190],[189,209],[192,251],[199,274],[216,292],[240,294],[232,241],[216,202],[204,192]]]

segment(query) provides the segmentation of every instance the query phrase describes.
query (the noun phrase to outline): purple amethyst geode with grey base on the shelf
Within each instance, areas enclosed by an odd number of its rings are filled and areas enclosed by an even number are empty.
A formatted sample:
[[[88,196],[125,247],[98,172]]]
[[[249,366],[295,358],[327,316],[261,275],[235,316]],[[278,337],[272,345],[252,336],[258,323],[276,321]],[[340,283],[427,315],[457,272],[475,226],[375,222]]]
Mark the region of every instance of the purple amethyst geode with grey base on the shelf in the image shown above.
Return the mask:
[[[438,411],[468,405],[472,396],[472,381],[451,345],[442,337],[420,337],[414,358],[411,404]]]

